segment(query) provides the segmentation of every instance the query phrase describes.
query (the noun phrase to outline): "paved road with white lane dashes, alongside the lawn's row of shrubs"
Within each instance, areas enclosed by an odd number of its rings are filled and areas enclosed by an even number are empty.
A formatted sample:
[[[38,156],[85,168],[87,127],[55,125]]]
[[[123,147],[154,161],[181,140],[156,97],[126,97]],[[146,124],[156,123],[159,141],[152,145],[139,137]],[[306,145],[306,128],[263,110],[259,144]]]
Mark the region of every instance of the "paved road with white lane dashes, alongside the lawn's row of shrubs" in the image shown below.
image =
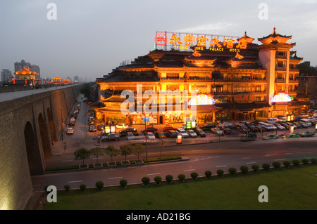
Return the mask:
[[[165,178],[171,174],[177,178],[178,174],[184,173],[189,177],[192,171],[204,176],[204,171],[211,170],[213,174],[217,169],[225,172],[230,167],[236,167],[239,171],[241,165],[263,164],[285,159],[302,159],[317,157],[316,138],[310,140],[259,140],[249,143],[240,141],[207,143],[197,145],[183,145],[182,147],[171,147],[167,154],[180,154],[189,160],[163,164],[148,164],[142,166],[122,166],[108,169],[87,169],[78,171],[67,171],[59,173],[46,173],[42,176],[32,176],[32,183],[35,191],[42,191],[44,185],[55,185],[58,190],[69,184],[71,188],[78,188],[81,183],[87,187],[95,187],[98,180],[104,181],[106,186],[118,185],[120,179],[128,180],[128,184],[141,183],[144,176],[151,180],[155,176]],[[151,152],[151,155],[158,155],[159,152]]]

